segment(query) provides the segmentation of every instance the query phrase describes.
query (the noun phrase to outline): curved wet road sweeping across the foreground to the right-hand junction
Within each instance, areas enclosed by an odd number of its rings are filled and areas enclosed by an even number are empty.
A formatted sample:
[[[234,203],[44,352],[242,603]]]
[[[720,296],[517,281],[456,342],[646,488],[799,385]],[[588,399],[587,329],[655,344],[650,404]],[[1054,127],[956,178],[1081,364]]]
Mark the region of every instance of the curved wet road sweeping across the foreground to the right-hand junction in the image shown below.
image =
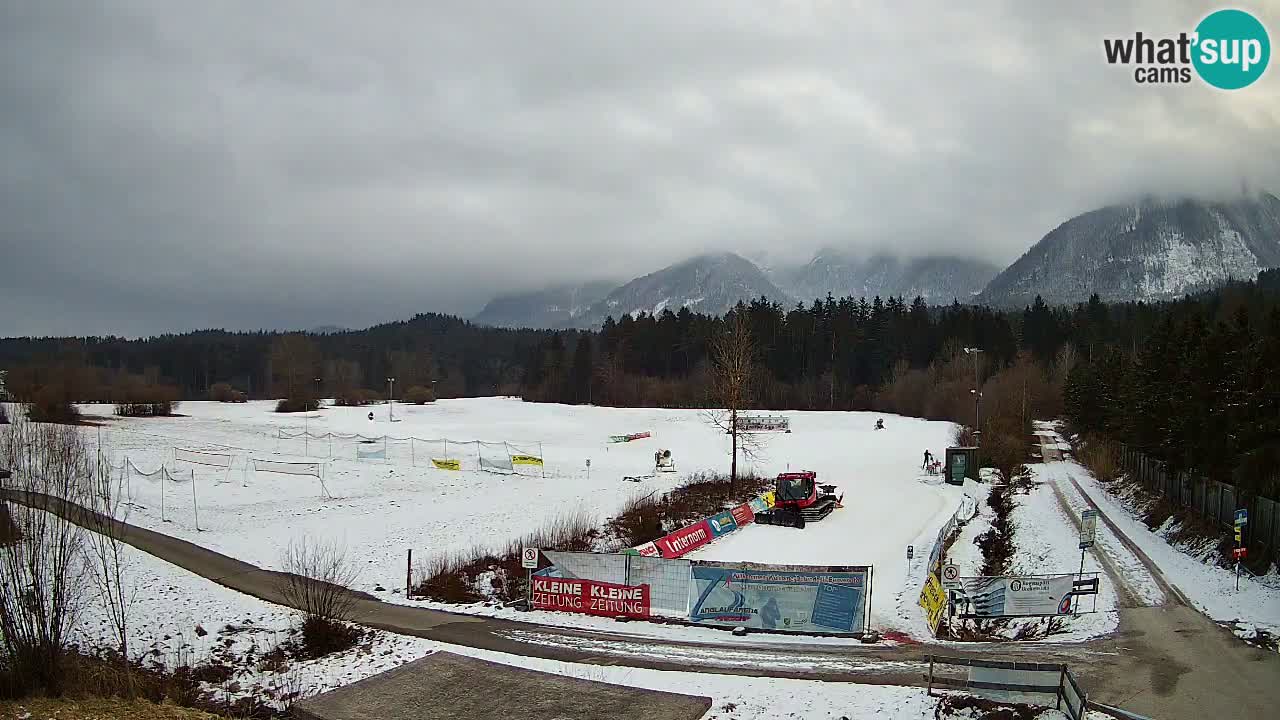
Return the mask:
[[[0,497],[40,507],[91,530],[115,525],[131,546],[228,588],[289,606],[284,573],[228,557],[183,539],[119,523],[60,498],[0,489]],[[1249,648],[1187,607],[1123,609],[1121,632],[1078,644],[947,643],[901,646],[780,644],[726,637],[699,643],[549,628],[381,602],[353,593],[353,620],[394,633],[511,655],[655,670],[922,685],[931,653],[1014,661],[1068,662],[1094,701],[1153,717],[1202,717],[1231,707],[1263,717],[1276,707],[1280,656]],[[1208,705],[1206,705],[1208,703]]]

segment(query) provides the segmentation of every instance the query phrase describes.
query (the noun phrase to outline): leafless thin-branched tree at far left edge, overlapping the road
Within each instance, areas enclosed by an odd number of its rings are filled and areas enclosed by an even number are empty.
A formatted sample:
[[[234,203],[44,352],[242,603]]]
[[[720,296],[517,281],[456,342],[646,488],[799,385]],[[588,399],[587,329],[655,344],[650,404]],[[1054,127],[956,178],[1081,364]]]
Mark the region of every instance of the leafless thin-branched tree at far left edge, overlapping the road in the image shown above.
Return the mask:
[[[6,489],[81,502],[92,471],[78,428],[15,418],[0,430],[0,466],[12,470]],[[70,520],[6,502],[18,530],[0,552],[0,643],[23,689],[63,692],[64,655],[86,601],[86,530]]]

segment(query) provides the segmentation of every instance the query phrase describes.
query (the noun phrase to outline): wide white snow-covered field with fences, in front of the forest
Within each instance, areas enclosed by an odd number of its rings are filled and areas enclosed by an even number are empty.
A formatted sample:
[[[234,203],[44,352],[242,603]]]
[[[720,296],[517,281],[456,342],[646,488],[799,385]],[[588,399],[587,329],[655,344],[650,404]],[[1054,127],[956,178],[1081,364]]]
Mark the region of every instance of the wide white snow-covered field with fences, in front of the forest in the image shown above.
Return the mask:
[[[426,406],[397,405],[397,421],[385,406],[325,407],[308,416],[280,415],[270,402],[243,405],[184,402],[180,418],[118,419],[109,406],[86,411],[105,418],[102,446],[111,461],[143,471],[166,464],[186,482],[168,483],[161,520],[160,482],[137,473],[127,477],[131,523],[182,537],[265,568],[279,568],[282,550],[297,538],[346,544],[362,564],[360,585],[393,600],[403,587],[406,551],[415,561],[472,546],[502,546],[566,511],[585,511],[599,521],[637,495],[662,492],[700,470],[723,471],[728,438],[696,410],[609,409],[526,404],[515,398],[442,400]],[[374,420],[367,414],[374,413]],[[927,553],[937,528],[955,511],[961,489],[920,473],[925,448],[934,455],[948,445],[952,427],[913,418],[869,413],[787,413],[791,433],[767,436],[756,473],[817,470],[840,486],[845,507],[805,530],[748,527],[700,551],[696,557],[760,562],[873,565],[872,625],[909,629],[896,610],[908,582],[905,550]],[[389,442],[390,461],[356,460],[353,439],[280,439],[303,429],[407,438],[451,438],[449,456],[461,471],[430,466],[440,443]],[[88,429],[97,437],[96,429]],[[612,434],[652,432],[630,443],[609,443]],[[512,443],[513,452],[540,448],[545,477],[535,466],[520,475],[480,471],[475,445]],[[230,470],[173,460],[173,448],[227,452]],[[372,447],[378,447],[376,443]],[[669,448],[678,473],[653,473],[653,454]],[[330,452],[333,457],[330,456]],[[251,457],[324,460],[324,497],[315,478],[246,470]],[[590,460],[590,473],[586,461]],[[750,462],[746,464],[751,466]],[[625,475],[648,475],[639,483]],[[200,530],[192,502],[196,483]],[[376,588],[387,588],[376,591]],[[918,592],[908,589],[905,594]],[[556,614],[547,620],[564,618]],[[543,621],[543,618],[526,619]],[[914,626],[914,625],[913,625]],[[667,629],[666,632],[678,632]]]

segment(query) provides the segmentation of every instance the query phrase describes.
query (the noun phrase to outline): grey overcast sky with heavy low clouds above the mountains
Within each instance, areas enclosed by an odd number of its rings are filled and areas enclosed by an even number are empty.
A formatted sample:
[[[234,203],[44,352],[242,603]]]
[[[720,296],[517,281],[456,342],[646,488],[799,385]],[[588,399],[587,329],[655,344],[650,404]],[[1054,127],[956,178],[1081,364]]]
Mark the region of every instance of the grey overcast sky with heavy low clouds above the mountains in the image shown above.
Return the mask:
[[[1219,5],[925,5],[0,3],[0,336],[471,314],[714,250],[1007,264],[1137,195],[1280,192],[1280,68],[1103,61]],[[1276,42],[1280,0],[1233,6]]]

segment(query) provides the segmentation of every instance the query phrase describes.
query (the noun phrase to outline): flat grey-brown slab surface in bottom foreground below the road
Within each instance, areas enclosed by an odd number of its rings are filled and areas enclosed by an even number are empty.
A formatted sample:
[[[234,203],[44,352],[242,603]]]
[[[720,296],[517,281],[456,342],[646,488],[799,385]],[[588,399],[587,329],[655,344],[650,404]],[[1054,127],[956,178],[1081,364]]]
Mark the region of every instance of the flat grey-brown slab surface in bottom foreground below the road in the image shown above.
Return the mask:
[[[580,680],[449,652],[307,698],[301,720],[698,720],[712,707],[692,697]],[[641,711],[643,708],[643,711]]]

